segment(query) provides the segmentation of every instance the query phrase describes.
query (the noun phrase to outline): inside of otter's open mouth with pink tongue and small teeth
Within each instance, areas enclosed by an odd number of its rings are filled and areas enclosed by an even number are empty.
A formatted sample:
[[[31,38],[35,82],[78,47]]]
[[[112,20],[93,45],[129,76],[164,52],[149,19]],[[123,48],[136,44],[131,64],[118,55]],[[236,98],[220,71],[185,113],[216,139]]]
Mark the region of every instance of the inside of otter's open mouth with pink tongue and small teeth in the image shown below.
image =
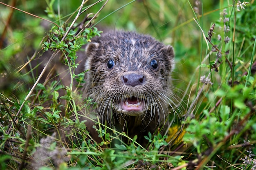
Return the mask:
[[[139,102],[138,98],[134,96],[122,102],[122,109],[127,111],[141,111],[143,107],[142,102]]]

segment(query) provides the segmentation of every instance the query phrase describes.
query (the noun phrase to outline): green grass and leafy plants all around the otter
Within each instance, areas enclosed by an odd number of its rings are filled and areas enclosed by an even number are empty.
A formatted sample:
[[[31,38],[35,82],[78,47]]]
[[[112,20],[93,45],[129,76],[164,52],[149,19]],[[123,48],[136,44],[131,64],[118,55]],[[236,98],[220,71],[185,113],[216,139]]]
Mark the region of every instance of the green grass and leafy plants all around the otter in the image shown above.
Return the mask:
[[[30,169],[31,157],[39,159],[36,168],[45,158],[41,170],[256,169],[254,1],[241,9],[231,0],[110,0],[93,7],[85,3],[81,11],[90,8],[80,16],[81,2],[14,2],[8,3],[59,27],[0,4],[0,169]],[[105,2],[87,29],[68,29]],[[168,136],[149,134],[148,148],[135,139],[122,143],[127,136],[115,130],[108,134],[104,125],[98,144],[84,122],[72,121],[93,104],[91,99],[78,102],[79,88],[72,86],[84,83],[83,73],[76,72],[77,53],[100,33],[90,26],[150,34],[175,49],[173,86],[181,99],[180,119]],[[62,57],[53,57],[56,53]],[[64,73],[68,81],[59,79]],[[106,147],[113,139],[115,146]]]

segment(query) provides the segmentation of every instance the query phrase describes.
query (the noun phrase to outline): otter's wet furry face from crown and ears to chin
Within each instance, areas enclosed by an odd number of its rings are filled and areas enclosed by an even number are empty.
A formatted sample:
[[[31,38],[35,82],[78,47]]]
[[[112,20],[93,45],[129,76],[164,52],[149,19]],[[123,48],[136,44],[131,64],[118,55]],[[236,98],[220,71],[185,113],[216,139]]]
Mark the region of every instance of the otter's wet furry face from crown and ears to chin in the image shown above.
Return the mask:
[[[168,114],[173,56],[171,46],[131,32],[103,34],[88,44],[86,93],[99,116]]]

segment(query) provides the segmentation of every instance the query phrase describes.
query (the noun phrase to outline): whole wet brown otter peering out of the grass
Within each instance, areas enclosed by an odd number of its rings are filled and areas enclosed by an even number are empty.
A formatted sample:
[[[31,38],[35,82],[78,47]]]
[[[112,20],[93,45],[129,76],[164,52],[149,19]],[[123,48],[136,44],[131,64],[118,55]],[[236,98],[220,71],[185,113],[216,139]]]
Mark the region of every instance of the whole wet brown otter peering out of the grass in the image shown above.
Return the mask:
[[[150,35],[112,31],[92,39],[84,57],[84,70],[88,71],[83,96],[97,103],[94,111],[101,124],[131,138],[137,135],[136,141],[142,146],[148,144],[144,138],[148,132],[165,132],[173,104],[171,45]],[[99,138],[93,131],[94,123],[87,121],[92,137]]]

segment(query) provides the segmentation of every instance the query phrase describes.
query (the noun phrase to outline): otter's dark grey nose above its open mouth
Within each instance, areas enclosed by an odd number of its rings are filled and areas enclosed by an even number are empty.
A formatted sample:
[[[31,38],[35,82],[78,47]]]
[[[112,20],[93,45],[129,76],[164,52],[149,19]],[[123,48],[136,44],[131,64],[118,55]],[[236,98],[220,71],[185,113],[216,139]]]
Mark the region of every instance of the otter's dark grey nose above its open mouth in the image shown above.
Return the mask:
[[[143,84],[145,82],[144,75],[135,74],[135,73],[123,75],[121,79],[124,82],[124,84],[130,85],[133,87],[139,84]]]

